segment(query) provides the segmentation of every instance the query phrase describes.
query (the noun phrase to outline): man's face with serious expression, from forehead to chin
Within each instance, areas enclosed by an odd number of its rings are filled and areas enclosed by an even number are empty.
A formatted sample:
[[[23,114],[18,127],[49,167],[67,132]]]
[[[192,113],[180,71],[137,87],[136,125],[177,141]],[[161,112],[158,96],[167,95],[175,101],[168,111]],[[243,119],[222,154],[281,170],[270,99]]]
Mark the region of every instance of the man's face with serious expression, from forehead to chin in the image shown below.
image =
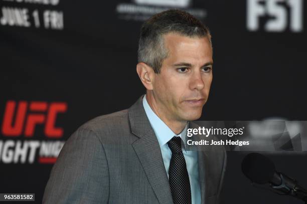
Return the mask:
[[[196,120],[202,114],[212,81],[212,48],[207,37],[164,36],[168,58],[155,74],[153,95],[159,113],[175,121]]]

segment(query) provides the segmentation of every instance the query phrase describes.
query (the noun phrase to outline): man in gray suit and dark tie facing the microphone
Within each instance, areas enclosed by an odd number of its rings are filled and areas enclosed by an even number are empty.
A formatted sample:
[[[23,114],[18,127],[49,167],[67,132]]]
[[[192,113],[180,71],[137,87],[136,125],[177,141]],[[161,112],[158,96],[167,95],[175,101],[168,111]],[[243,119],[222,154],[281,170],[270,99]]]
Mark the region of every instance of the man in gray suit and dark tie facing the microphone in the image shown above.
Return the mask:
[[[183,11],[147,20],[136,66],[146,95],[128,110],[87,122],[67,140],[43,203],[217,203],[224,148],[181,146],[187,128],[196,126],[188,121],[201,116],[208,99],[210,38]]]

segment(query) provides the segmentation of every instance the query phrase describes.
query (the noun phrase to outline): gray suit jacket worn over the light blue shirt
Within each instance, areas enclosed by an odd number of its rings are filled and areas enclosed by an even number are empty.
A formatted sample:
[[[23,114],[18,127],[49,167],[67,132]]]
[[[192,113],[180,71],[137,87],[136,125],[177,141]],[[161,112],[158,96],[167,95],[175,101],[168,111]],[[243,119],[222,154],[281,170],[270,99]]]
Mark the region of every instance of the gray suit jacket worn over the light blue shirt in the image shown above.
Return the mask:
[[[53,166],[43,203],[173,203],[160,146],[141,98],[128,110],[78,128]],[[206,148],[198,151],[198,159],[202,203],[218,203],[225,150]]]

